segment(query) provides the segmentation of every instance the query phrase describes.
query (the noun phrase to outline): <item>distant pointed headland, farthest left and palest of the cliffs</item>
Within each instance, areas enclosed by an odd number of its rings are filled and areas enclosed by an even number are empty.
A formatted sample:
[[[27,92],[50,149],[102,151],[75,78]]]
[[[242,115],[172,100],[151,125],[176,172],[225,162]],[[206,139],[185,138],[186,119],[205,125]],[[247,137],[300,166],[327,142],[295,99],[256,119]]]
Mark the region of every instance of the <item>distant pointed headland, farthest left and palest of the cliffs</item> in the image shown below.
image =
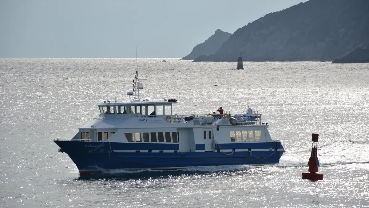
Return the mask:
[[[181,59],[194,60],[196,57],[200,55],[214,54],[215,52],[217,52],[220,46],[224,43],[224,41],[228,40],[230,36],[231,36],[231,33],[223,32],[220,29],[218,29],[206,41],[195,46],[192,49],[190,54],[188,54],[187,56]]]

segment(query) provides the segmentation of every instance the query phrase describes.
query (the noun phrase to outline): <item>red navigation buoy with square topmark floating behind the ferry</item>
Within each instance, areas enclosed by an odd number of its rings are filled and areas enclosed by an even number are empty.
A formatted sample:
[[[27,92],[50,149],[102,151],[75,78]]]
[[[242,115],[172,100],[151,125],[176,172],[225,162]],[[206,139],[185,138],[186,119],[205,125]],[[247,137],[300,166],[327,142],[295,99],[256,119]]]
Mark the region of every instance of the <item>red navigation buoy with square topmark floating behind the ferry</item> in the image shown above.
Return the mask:
[[[318,138],[319,134],[311,134],[311,141],[313,142],[313,148],[311,148],[311,155],[309,158],[309,162],[307,165],[309,166],[309,172],[303,172],[302,178],[303,179],[310,179],[310,180],[323,180],[323,174],[317,173],[319,160],[318,160]]]

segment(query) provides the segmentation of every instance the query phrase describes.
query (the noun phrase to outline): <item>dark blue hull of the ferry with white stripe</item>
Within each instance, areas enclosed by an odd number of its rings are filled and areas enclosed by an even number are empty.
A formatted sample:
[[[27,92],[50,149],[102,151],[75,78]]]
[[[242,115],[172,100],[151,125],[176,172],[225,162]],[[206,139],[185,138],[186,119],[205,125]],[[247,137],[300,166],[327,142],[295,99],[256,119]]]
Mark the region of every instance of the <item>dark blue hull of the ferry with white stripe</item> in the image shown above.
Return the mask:
[[[118,143],[118,142],[82,142],[82,141],[54,141],[61,151],[69,155],[76,164],[80,174],[89,174],[99,169],[139,170],[159,169],[173,170],[184,167],[211,166],[211,165],[263,165],[277,164],[284,152],[280,142],[219,144],[224,150],[235,146],[249,151],[232,152],[174,152],[179,144],[145,144],[145,143]],[[271,144],[272,143],[272,144]],[[101,145],[99,147],[99,145]],[[269,148],[273,147],[272,151]],[[173,152],[147,152],[155,150],[173,150]],[[139,150],[146,152],[114,152],[114,150]],[[268,151],[261,151],[261,150]],[[253,151],[255,150],[255,151]],[[278,150],[278,151],[275,151]],[[231,155],[226,155],[231,154]]]

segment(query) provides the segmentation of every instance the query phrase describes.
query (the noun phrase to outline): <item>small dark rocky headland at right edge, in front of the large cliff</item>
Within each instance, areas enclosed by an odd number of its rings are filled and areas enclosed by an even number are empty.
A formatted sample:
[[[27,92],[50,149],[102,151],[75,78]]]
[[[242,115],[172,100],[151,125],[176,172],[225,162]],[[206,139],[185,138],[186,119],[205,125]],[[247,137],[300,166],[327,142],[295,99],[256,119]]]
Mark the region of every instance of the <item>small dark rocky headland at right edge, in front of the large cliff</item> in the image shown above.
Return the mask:
[[[332,63],[369,63],[369,47],[357,47],[345,56],[336,58]]]

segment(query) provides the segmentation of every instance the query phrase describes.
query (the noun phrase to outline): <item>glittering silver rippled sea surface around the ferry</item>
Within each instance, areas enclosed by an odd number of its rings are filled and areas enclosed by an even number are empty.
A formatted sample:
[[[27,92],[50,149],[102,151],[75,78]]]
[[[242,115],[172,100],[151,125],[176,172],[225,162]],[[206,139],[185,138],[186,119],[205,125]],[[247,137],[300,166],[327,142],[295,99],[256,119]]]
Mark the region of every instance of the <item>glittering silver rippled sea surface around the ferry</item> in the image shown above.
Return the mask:
[[[369,207],[369,64],[138,59],[145,98],[177,114],[250,106],[286,150],[280,164],[80,177],[52,142],[128,101],[135,59],[0,59],[0,207]],[[322,181],[307,172],[320,134]]]

